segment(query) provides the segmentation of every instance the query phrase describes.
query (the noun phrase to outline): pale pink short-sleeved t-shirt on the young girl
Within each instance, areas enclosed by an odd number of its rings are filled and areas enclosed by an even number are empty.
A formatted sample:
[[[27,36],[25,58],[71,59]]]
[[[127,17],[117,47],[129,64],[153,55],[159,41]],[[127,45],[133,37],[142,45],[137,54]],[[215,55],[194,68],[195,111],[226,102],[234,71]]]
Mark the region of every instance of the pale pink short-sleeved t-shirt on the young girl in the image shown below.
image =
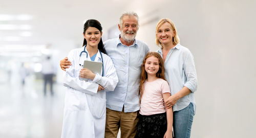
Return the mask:
[[[140,114],[144,116],[165,112],[162,94],[170,93],[167,81],[157,79],[144,82],[144,93],[141,98]]]

